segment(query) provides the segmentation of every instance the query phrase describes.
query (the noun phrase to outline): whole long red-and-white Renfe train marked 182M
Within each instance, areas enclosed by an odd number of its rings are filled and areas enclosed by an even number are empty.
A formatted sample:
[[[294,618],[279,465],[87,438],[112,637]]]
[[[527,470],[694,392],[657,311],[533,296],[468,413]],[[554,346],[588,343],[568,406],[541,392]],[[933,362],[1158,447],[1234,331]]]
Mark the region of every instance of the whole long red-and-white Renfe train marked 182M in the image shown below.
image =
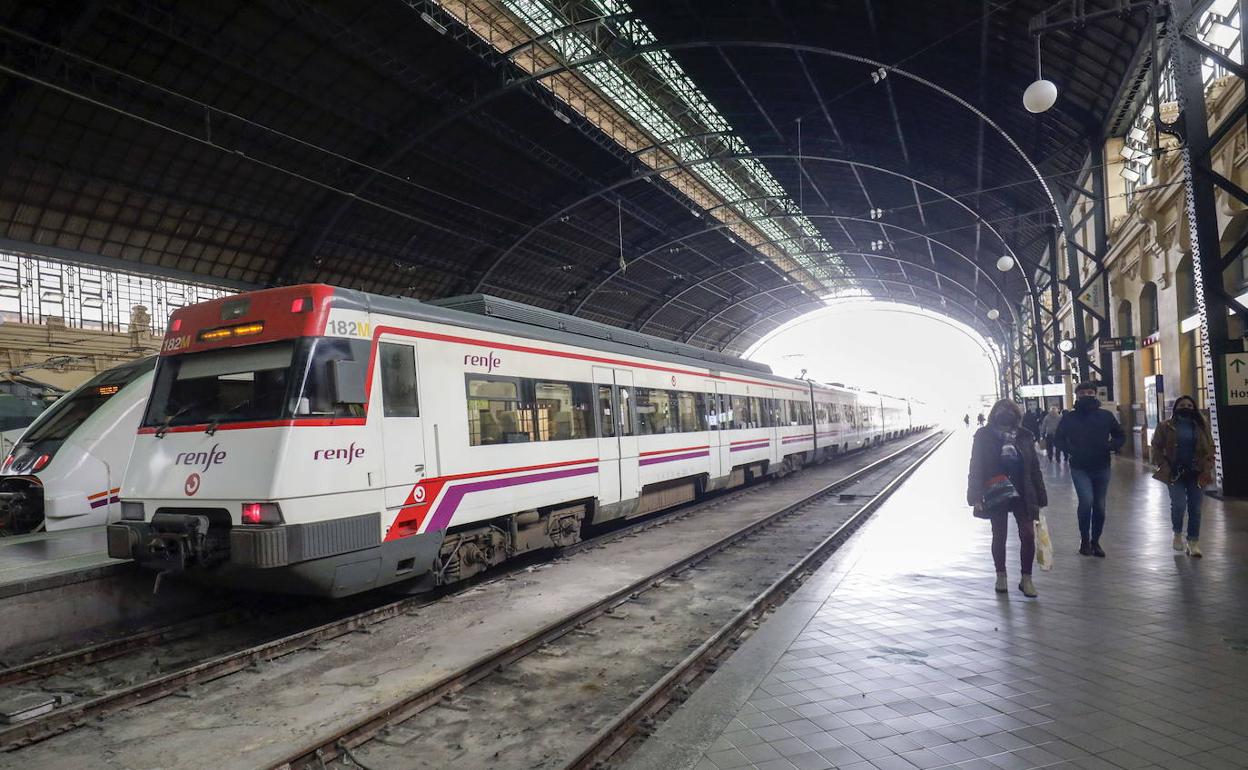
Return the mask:
[[[268,288],[171,316],[109,555],[262,592],[424,590],[931,423],[497,297]]]

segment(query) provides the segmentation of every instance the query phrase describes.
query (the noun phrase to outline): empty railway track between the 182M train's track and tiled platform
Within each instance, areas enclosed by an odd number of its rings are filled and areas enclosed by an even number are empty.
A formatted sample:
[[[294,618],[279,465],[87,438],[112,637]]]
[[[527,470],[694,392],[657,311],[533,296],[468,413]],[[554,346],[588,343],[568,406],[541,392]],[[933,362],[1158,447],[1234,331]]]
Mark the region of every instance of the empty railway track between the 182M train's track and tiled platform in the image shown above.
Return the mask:
[[[344,729],[316,738],[272,766],[603,766],[714,668],[947,437],[926,437],[855,470]],[[890,470],[915,456],[901,472]],[[844,515],[815,525],[832,509]],[[741,578],[743,568],[756,567],[760,554],[765,562],[785,549],[794,557],[791,564]],[[671,590],[658,590],[663,588]],[[640,623],[622,623],[630,616]],[[721,616],[728,620],[719,621]],[[670,658],[673,643],[655,639],[668,625],[685,630],[674,641],[689,651],[676,660],[663,659]],[[655,665],[649,665],[651,659]],[[629,670],[638,661],[645,670]],[[622,670],[625,675],[618,676]],[[636,689],[639,680],[646,686]],[[613,688],[628,685],[636,691],[620,701]],[[607,718],[594,709],[603,704],[614,709]],[[578,723],[593,733],[583,736],[569,729]],[[583,748],[563,755],[578,745]]]

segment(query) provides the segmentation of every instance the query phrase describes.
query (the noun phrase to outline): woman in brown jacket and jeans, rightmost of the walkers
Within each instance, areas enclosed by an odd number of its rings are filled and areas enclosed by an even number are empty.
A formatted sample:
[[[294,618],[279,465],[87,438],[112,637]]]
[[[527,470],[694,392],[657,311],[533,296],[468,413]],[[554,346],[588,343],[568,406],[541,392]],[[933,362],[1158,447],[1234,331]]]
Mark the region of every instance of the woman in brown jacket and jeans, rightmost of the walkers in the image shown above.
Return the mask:
[[[1213,480],[1213,436],[1191,396],[1174,399],[1171,418],[1153,432],[1153,478],[1164,483],[1171,495],[1171,528],[1174,550],[1201,558],[1201,502],[1204,485]],[[1187,543],[1183,542],[1183,513],[1187,513]]]

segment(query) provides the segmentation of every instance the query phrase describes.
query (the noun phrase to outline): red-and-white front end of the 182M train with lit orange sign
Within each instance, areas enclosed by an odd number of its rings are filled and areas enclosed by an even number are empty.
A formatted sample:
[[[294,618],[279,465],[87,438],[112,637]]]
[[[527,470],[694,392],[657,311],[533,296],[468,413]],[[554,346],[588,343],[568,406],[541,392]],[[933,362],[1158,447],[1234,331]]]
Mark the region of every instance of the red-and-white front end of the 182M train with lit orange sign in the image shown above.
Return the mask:
[[[358,590],[352,565],[379,539],[366,512],[381,453],[364,417],[367,323],[324,336],[333,291],[265,290],[173,314],[109,555],[240,588]]]

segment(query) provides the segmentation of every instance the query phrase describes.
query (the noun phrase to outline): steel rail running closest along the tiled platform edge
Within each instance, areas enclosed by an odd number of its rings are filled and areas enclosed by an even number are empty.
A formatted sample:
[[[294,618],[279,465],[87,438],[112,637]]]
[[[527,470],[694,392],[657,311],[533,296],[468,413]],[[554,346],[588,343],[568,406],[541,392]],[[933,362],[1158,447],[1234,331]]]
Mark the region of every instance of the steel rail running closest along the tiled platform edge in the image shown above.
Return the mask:
[[[941,448],[945,441],[952,436],[946,433],[936,444],[925,452],[919,459],[911,463],[897,477],[890,480],[884,489],[867,500],[861,508],[830,535],[816,545],[810,553],[780,575],[761,594],[755,597],[731,620],[721,625],[706,641],[700,644],[693,653],[678,663],[659,681],[654,683],[645,693],[639,695],[631,704],[617,715],[612,724],[599,730],[590,744],[585,746],[573,760],[564,765],[564,770],[584,770],[588,768],[602,768],[603,764],[635,735],[645,731],[649,720],[653,720],[668,704],[676,700],[683,689],[694,681],[710,663],[726,651],[733,641],[758,618],[769,609],[781,604],[787,594],[791,594],[805,579],[826,560],[845,540],[849,539],[859,527],[871,517],[871,514],[907,479],[932,453]]]

